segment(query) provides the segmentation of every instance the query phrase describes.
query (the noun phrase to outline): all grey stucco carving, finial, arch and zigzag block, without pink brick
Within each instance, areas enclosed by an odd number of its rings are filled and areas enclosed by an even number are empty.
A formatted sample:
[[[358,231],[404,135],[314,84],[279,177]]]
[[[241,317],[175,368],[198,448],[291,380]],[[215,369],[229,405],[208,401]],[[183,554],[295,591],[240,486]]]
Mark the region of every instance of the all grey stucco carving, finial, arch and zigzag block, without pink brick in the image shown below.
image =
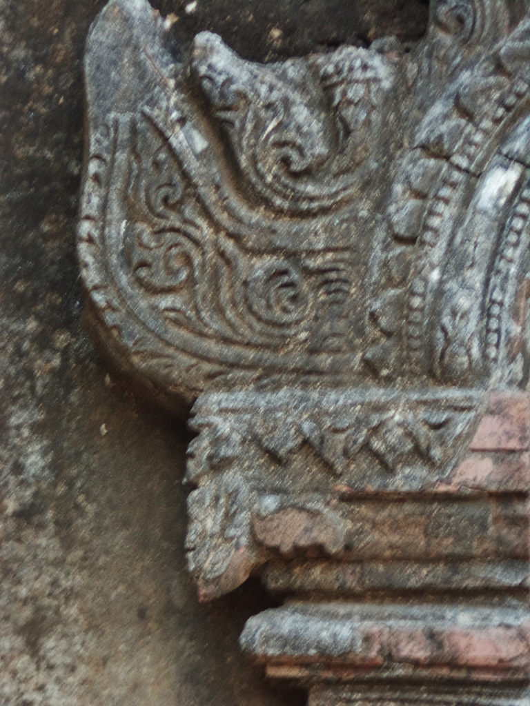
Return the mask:
[[[442,483],[490,385],[525,383],[530,20],[502,0],[431,20],[411,52],[268,65],[208,32],[176,61],[146,0],[90,35],[83,280],[119,364],[199,397],[205,599],[270,556],[358,551],[349,500]]]

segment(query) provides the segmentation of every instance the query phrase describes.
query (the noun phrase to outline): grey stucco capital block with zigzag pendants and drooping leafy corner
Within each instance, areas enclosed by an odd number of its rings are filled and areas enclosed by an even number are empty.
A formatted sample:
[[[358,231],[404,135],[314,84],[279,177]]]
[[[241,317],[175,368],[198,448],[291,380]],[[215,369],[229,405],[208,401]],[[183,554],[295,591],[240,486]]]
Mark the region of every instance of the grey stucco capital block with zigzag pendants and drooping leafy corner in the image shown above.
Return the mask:
[[[271,551],[347,554],[351,519],[339,498],[450,485],[483,402],[471,390],[203,395],[187,470],[201,594],[235,587]]]

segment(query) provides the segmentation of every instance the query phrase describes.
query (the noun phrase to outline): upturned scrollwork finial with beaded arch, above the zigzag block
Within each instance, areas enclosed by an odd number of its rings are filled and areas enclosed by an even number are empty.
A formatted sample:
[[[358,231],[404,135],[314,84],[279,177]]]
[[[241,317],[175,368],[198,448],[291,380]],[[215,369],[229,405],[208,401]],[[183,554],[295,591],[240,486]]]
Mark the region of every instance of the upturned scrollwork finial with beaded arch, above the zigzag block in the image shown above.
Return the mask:
[[[101,203],[97,215],[83,210],[93,237],[80,231],[95,320],[123,364],[177,400],[317,378],[521,379],[492,348],[495,331],[513,337],[520,287],[499,328],[483,322],[490,263],[505,261],[505,210],[525,198],[524,139],[513,145],[526,119],[529,20],[515,26],[520,13],[500,1],[440,2],[411,54],[341,47],[269,66],[203,32],[184,66],[162,20],[137,5],[133,21],[114,0],[112,21],[133,25],[131,55],[107,82],[105,18],[89,44],[88,164],[105,173],[86,179],[83,209]],[[458,74],[429,54],[440,42]],[[116,88],[130,73],[143,92]]]

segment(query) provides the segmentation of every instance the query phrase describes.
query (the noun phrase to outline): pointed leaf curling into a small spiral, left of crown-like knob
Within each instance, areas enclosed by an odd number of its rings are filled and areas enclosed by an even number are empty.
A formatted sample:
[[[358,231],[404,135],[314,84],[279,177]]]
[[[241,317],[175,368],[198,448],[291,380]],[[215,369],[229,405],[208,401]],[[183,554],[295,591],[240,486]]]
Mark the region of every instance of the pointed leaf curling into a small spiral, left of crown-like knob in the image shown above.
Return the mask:
[[[243,61],[209,32],[194,40],[190,69],[223,124],[242,172],[266,198],[303,195],[295,178],[331,156],[329,121],[302,62],[288,68]],[[302,196],[303,198],[303,196]],[[279,202],[278,202],[279,205]],[[286,204],[285,204],[286,205]]]

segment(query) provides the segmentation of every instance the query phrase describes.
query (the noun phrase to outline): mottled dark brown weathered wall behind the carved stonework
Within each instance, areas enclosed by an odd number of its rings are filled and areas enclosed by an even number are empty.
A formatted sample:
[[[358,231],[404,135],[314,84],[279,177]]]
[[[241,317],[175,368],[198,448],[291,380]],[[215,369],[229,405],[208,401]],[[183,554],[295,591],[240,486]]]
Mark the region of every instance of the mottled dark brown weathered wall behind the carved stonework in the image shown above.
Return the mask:
[[[298,3],[254,3],[254,21],[247,0],[187,4],[160,3],[183,42],[222,30],[254,59],[377,34],[351,2],[318,36],[307,26],[320,1],[305,28]],[[119,384],[81,325],[81,64],[103,5],[0,0],[0,702],[302,703],[240,656],[256,587],[197,606],[183,556],[185,431]]]

